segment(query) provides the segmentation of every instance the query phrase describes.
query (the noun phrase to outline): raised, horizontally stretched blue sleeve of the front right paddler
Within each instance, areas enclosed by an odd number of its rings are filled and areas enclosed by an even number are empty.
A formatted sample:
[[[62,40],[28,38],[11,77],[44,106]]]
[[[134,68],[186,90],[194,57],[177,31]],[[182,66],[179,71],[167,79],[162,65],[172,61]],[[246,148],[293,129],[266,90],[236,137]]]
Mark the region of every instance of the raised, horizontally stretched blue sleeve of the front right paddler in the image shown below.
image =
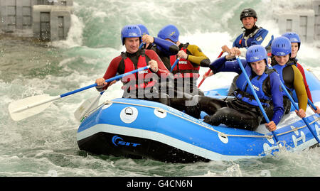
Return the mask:
[[[247,66],[247,62],[245,60],[241,59],[241,62],[243,67]],[[215,74],[218,72],[237,72],[240,74],[242,72],[238,60],[228,61],[225,59],[225,56],[211,62],[210,70]]]

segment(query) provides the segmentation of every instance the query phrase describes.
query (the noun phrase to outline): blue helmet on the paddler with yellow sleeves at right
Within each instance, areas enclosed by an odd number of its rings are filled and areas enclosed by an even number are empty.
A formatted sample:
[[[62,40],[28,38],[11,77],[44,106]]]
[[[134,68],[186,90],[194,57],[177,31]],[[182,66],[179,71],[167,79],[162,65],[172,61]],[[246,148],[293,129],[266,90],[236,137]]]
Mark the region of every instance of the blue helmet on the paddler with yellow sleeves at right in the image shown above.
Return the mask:
[[[272,55],[282,56],[291,54],[290,40],[284,36],[274,38],[271,43]]]

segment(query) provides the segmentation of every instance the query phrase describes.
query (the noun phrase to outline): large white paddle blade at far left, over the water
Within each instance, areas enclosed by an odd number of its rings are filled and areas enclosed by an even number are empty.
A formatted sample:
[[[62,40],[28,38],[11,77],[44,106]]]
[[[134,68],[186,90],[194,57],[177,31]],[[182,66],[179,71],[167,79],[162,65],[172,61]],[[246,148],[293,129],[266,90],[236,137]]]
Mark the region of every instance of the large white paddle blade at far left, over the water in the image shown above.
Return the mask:
[[[50,97],[48,94],[43,94],[11,102],[8,107],[10,116],[14,121],[26,119],[45,110],[58,98],[60,97]]]

